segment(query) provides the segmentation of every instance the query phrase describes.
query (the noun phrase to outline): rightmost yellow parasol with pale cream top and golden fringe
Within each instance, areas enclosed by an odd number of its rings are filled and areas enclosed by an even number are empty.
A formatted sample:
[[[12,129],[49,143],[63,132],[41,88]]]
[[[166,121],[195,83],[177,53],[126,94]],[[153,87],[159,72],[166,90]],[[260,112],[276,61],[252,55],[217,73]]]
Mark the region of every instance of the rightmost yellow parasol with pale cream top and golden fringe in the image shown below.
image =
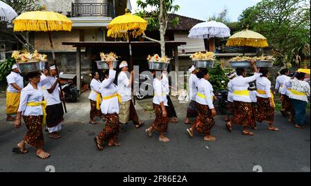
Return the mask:
[[[263,48],[269,45],[267,43],[267,38],[263,35],[252,30],[245,29],[229,37],[226,46],[243,46],[243,55],[245,55],[245,46]]]

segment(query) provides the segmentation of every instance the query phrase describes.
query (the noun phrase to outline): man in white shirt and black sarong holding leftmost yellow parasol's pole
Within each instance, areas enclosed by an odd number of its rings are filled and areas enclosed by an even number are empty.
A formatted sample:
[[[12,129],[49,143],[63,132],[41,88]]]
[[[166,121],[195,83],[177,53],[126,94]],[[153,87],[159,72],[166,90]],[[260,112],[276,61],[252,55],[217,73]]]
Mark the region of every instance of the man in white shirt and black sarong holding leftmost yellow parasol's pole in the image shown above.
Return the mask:
[[[44,94],[44,99],[47,103],[46,124],[48,126],[50,138],[58,139],[61,138],[58,132],[62,129],[62,122],[64,121],[64,109],[61,102],[61,100],[64,100],[64,97],[60,96],[60,79],[55,77],[57,75],[55,66],[50,66],[50,73],[54,78],[44,86],[46,91]]]

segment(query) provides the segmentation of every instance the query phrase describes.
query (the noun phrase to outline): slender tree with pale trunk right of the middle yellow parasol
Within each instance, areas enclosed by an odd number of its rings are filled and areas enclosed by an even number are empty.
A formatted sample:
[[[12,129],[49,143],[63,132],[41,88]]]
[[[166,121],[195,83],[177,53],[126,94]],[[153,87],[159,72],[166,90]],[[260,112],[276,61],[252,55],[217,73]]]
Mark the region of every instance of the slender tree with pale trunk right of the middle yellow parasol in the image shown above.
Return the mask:
[[[161,56],[165,56],[165,40],[164,35],[167,30],[167,24],[169,22],[169,13],[176,12],[179,10],[178,5],[173,5],[174,0],[138,0],[138,7],[141,8],[136,15],[147,19],[149,22],[149,30],[160,31],[160,41],[152,39],[144,35],[143,37],[151,41],[156,41],[160,43],[161,46]],[[151,7],[151,11],[145,10],[147,7]],[[173,19],[173,23],[178,22],[178,19]]]

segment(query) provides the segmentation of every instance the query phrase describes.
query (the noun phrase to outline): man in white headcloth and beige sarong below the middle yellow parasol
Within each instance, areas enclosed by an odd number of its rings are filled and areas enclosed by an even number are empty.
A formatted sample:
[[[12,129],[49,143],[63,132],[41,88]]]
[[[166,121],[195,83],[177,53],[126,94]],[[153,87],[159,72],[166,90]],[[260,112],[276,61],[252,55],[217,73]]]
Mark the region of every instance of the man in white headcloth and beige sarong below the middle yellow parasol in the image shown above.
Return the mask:
[[[142,127],[144,122],[140,122],[138,114],[136,113],[135,106],[132,102],[132,89],[133,84],[133,71],[131,71],[130,77],[127,76],[129,73],[129,67],[126,61],[121,62],[119,68],[121,72],[117,77],[118,93],[122,97],[122,103],[120,104],[119,121],[122,124],[127,124],[129,121],[133,121],[135,128]]]

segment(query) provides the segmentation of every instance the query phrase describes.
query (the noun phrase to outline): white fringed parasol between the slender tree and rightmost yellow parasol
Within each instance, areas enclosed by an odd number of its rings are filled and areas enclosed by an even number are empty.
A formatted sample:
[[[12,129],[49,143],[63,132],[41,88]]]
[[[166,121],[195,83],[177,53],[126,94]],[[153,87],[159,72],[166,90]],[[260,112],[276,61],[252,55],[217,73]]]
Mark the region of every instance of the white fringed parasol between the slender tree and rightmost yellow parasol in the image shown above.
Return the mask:
[[[223,23],[216,21],[207,21],[200,24],[196,24],[193,28],[189,30],[189,38],[193,39],[209,39],[215,42],[214,37],[229,37],[230,29]],[[211,46],[211,44],[209,44]],[[213,44],[215,47],[215,44]],[[207,49],[207,48],[205,48]],[[212,51],[214,52],[214,51]]]

